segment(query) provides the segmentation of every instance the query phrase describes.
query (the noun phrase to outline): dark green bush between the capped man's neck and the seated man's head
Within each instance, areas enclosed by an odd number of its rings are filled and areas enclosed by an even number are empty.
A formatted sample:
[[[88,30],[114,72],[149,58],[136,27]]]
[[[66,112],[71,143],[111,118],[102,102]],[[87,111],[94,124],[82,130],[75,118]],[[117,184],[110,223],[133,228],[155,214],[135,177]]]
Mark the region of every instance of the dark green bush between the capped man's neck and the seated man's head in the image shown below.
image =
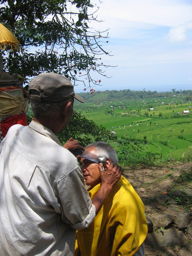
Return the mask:
[[[86,146],[92,141],[106,141],[112,138],[109,130],[102,125],[98,126],[93,121],[87,120],[78,112],[74,112],[72,119],[57,136],[62,144],[72,137],[78,140],[82,146]]]

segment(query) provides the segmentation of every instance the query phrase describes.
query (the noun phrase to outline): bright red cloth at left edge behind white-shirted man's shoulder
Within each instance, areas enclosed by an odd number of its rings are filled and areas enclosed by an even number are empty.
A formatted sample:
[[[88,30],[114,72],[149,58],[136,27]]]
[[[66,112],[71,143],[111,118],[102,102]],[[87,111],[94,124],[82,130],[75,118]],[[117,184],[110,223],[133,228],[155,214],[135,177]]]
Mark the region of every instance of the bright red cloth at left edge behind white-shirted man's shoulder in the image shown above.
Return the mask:
[[[26,113],[18,114],[15,116],[10,116],[8,118],[4,118],[1,122],[1,133],[4,138],[9,130],[9,128],[14,124],[22,124],[23,126],[27,126],[27,116]]]

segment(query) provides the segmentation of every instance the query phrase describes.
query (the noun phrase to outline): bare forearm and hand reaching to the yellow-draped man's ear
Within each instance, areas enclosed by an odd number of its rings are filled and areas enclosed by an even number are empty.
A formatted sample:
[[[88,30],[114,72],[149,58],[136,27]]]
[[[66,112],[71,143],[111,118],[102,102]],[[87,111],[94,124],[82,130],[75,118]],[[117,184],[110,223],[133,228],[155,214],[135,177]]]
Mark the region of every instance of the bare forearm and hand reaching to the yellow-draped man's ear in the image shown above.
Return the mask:
[[[105,198],[108,196],[115,184],[119,181],[123,173],[123,169],[117,164],[114,165],[111,163],[105,172],[101,171],[102,167],[103,165],[101,163],[99,165],[100,176],[102,179],[101,188],[94,196],[94,198],[92,198],[92,204],[95,206],[96,215],[102,208]]]

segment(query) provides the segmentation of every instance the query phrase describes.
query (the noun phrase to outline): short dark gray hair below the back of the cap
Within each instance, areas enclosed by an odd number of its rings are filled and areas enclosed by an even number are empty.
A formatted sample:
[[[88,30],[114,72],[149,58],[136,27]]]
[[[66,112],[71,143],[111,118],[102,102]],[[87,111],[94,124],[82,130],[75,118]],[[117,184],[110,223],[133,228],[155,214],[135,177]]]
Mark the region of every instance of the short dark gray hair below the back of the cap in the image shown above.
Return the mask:
[[[66,102],[41,102],[30,100],[34,117],[53,118],[56,112],[63,110]]]

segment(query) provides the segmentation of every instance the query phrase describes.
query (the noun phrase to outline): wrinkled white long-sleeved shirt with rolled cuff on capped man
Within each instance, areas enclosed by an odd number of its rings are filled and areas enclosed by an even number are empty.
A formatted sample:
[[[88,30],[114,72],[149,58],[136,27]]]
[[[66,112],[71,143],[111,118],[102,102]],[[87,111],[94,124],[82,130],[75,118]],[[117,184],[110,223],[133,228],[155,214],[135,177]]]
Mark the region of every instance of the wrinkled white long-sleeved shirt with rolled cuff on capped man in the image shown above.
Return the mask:
[[[76,158],[48,128],[12,126],[0,144],[0,255],[72,256],[95,217]]]

